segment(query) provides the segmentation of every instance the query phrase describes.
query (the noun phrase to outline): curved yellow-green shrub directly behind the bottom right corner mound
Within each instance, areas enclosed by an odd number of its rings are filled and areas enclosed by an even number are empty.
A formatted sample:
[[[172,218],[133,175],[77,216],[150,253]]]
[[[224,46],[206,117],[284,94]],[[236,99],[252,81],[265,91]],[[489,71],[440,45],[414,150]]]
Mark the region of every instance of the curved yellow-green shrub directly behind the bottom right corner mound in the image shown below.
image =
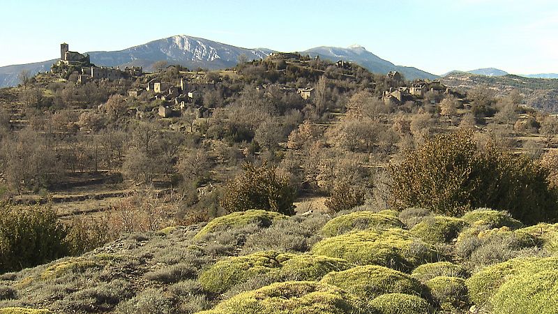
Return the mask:
[[[467,279],[469,298],[474,304],[484,306],[499,287],[521,271],[558,268],[558,257],[522,257],[486,267]]]

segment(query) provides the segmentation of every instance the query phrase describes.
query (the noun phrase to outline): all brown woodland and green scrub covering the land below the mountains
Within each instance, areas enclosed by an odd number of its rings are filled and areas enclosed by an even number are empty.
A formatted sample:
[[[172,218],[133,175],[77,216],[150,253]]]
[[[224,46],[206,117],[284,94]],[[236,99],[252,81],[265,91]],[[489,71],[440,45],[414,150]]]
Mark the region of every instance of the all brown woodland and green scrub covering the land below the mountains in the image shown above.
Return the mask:
[[[558,308],[556,117],[293,56],[0,89],[0,314]]]

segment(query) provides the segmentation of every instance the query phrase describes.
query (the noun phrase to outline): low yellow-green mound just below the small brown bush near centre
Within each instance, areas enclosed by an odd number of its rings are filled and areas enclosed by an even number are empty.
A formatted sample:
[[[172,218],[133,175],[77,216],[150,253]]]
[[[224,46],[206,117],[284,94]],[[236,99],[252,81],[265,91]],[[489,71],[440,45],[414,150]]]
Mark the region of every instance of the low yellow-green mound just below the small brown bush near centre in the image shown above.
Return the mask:
[[[381,230],[402,227],[402,225],[399,219],[393,216],[375,214],[372,211],[355,211],[329,220],[322,228],[322,234],[326,237],[333,237],[354,230],[373,228]]]

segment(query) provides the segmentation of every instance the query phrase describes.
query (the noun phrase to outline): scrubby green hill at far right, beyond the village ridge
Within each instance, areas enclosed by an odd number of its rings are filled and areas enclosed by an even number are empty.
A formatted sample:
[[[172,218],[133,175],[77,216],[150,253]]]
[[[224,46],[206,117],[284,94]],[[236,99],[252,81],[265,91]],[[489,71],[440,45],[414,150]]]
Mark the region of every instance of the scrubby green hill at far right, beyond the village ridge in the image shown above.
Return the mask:
[[[519,75],[487,76],[453,71],[441,78],[443,84],[453,89],[467,91],[484,84],[499,95],[517,89],[525,98],[526,105],[547,112],[558,112],[558,80]]]

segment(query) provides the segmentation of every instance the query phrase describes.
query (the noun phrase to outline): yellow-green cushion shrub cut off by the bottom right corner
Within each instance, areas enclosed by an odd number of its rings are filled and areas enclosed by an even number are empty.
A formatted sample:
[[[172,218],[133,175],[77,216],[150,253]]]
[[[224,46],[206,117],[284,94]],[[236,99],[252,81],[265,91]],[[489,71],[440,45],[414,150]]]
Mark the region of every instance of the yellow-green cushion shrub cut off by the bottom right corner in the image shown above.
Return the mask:
[[[492,308],[494,314],[556,313],[558,269],[521,271],[499,288],[492,298]]]

